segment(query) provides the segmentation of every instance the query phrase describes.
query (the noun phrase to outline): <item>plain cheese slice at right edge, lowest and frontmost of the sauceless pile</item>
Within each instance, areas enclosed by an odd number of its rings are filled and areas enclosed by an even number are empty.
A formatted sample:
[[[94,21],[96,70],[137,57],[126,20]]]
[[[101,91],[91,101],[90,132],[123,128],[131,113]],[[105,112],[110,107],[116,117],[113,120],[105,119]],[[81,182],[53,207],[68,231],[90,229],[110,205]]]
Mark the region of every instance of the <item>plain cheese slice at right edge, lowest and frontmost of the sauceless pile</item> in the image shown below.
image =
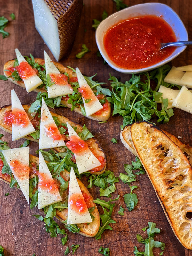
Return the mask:
[[[185,86],[182,86],[172,106],[192,114],[192,93]]]

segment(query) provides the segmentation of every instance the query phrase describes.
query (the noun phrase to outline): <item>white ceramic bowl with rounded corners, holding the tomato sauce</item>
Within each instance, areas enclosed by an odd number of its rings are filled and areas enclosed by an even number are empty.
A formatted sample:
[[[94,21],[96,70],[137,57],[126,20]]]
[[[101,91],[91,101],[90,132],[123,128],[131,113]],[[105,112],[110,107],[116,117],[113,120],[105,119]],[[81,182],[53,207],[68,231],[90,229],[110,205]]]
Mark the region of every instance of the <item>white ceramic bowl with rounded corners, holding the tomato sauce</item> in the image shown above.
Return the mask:
[[[174,12],[172,8],[170,8],[166,4],[161,4],[161,3],[138,4],[138,5],[134,5],[126,9],[123,9],[119,12],[116,12],[100,23],[100,25],[96,30],[95,37],[96,37],[97,46],[103,58],[106,60],[109,66],[111,66],[112,68],[114,68],[119,72],[126,73],[126,74],[141,73],[141,72],[149,71],[154,68],[158,68],[164,65],[165,63],[171,61],[175,57],[177,57],[186,48],[186,46],[176,47],[175,51],[169,57],[147,68],[125,69],[117,66],[112,60],[110,60],[107,52],[105,51],[105,48],[103,45],[103,37],[105,33],[110,27],[112,27],[114,24],[119,23],[122,20],[126,20],[136,16],[143,16],[143,15],[156,15],[156,16],[162,15],[163,19],[167,21],[167,23],[172,27],[173,31],[175,32],[177,41],[188,40],[188,33],[182,20],[177,15],[177,13]]]

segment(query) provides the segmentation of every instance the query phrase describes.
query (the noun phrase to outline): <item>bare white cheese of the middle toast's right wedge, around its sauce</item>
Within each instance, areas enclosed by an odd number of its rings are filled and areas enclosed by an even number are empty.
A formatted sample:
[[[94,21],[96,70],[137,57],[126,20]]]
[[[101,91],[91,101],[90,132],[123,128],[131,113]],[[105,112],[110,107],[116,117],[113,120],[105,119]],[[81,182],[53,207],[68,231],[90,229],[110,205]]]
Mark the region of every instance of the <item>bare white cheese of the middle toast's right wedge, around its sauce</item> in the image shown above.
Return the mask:
[[[67,129],[68,129],[69,136],[76,136],[77,138],[79,138],[77,133],[74,131],[74,129],[71,127],[71,125],[68,122],[67,122]],[[100,161],[93,155],[93,153],[89,148],[82,155],[78,155],[74,153],[74,156],[75,156],[77,168],[80,174],[101,165]]]

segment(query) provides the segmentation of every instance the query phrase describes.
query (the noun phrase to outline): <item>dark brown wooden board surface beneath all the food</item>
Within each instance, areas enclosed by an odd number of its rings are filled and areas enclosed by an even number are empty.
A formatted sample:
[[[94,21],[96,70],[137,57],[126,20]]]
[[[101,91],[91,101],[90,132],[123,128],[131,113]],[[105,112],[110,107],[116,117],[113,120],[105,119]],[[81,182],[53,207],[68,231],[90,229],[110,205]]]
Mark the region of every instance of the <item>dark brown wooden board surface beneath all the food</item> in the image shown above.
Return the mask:
[[[129,6],[148,1],[139,0],[124,0]],[[157,1],[149,1],[157,2]],[[189,39],[192,34],[192,5],[190,0],[162,0],[164,4],[172,7],[180,16],[185,24]],[[101,20],[103,11],[108,14],[116,12],[115,3],[112,0],[84,0],[83,12],[81,16],[80,26],[76,35],[76,40],[72,48],[72,52],[68,59],[63,59],[60,62],[71,67],[79,67],[82,73],[91,76],[98,73],[96,79],[100,82],[108,82],[109,73],[121,81],[129,79],[128,75],[123,75],[110,68],[107,64],[103,65],[102,58],[97,57],[97,46],[95,43],[95,29],[92,28],[92,19]],[[16,19],[11,21],[6,30],[10,36],[2,39],[0,35],[0,74],[3,74],[3,65],[7,60],[15,58],[14,48],[18,48],[23,55],[31,53],[34,57],[43,58],[43,50],[45,49],[50,57],[52,54],[44,44],[42,38],[34,27],[33,10],[30,0],[0,0],[0,16],[9,17],[10,13],[14,12]],[[82,59],[76,59],[75,55],[81,51],[82,44],[86,44],[91,52],[85,54]],[[188,47],[179,57],[172,61],[173,65],[181,66],[192,64],[192,47]],[[11,89],[15,89],[23,104],[30,104],[36,99],[36,93],[27,93],[26,90],[7,81],[0,81],[0,106],[11,104]],[[124,171],[124,164],[130,164],[135,157],[123,146],[119,139],[120,125],[122,118],[119,116],[110,117],[107,123],[98,124],[83,117],[75,112],[71,112],[68,108],[55,109],[60,115],[64,115],[69,119],[87,127],[95,135],[100,145],[104,148],[107,156],[107,168],[119,175]],[[188,114],[179,109],[174,109],[174,116],[170,118],[168,124],[158,124],[159,127],[171,132],[176,137],[182,136],[182,142],[192,145],[192,126],[191,114]],[[155,120],[154,120],[155,121]],[[2,132],[2,131],[0,131]],[[6,132],[3,140],[9,142],[12,148],[18,147],[23,143],[23,139],[12,142],[11,135]],[[118,139],[117,144],[112,144],[111,139]],[[31,154],[35,154],[38,145],[35,142],[30,143]],[[87,182],[83,179],[84,184]],[[139,244],[136,239],[136,234],[142,234],[141,228],[147,226],[148,221],[156,223],[156,227],[161,229],[161,233],[156,235],[156,240],[163,241],[166,244],[165,256],[189,256],[192,252],[185,249],[174,236],[172,229],[164,215],[160,203],[156,197],[155,191],[148,179],[148,176],[140,175],[138,181],[134,183],[138,185],[137,194],[139,203],[132,212],[128,212],[124,203],[123,195],[129,193],[129,186],[123,182],[116,183],[117,190],[112,197],[115,198],[120,194],[120,199],[116,202],[114,208],[113,219],[116,224],[111,224],[112,231],[105,231],[102,239],[95,240],[87,238],[79,234],[68,232],[69,236],[67,245],[80,244],[75,255],[100,255],[98,249],[100,246],[109,247],[110,255],[133,255],[133,246],[137,245],[139,250],[144,249],[144,245]],[[5,193],[9,192],[9,196]],[[99,197],[99,188],[93,186],[90,193],[94,198]],[[106,198],[102,198],[106,199]],[[120,205],[126,209],[125,215],[118,214]],[[100,213],[102,210],[99,208]],[[37,220],[33,214],[40,214],[38,209],[30,210],[22,192],[16,189],[11,189],[9,186],[0,181],[0,244],[5,248],[6,256],[30,256],[35,253],[36,256],[61,256],[64,255],[66,246],[61,244],[61,236],[50,238],[46,233],[44,223]],[[64,225],[59,221],[61,228]],[[154,249],[154,255],[159,255],[160,249]],[[72,253],[70,254],[72,255]]]

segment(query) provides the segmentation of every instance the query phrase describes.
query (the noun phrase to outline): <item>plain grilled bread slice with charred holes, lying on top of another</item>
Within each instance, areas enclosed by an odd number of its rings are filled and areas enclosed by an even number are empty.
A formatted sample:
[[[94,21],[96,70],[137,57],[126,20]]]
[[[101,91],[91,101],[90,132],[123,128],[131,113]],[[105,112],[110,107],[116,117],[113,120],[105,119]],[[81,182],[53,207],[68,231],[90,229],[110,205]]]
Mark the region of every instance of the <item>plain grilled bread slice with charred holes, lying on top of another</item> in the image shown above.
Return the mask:
[[[151,123],[132,124],[131,138],[175,236],[192,249],[192,167],[187,157]]]

